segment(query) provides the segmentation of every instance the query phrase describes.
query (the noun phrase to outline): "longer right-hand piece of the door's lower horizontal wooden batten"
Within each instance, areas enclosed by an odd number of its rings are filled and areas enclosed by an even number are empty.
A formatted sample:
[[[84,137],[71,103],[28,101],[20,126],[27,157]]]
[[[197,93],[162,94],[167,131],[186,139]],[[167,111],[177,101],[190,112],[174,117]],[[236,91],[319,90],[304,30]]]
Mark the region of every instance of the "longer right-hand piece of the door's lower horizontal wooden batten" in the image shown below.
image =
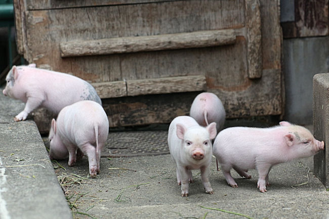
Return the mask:
[[[138,96],[204,91],[206,86],[203,75],[127,80],[127,95]]]

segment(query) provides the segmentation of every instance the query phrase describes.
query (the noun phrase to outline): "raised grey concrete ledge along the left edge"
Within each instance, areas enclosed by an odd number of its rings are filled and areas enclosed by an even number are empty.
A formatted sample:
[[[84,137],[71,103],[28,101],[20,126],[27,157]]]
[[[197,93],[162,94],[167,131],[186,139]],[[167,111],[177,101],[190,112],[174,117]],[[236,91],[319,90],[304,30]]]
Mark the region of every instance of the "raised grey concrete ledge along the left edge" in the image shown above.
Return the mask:
[[[34,121],[13,120],[24,104],[0,103],[0,218],[72,218]]]

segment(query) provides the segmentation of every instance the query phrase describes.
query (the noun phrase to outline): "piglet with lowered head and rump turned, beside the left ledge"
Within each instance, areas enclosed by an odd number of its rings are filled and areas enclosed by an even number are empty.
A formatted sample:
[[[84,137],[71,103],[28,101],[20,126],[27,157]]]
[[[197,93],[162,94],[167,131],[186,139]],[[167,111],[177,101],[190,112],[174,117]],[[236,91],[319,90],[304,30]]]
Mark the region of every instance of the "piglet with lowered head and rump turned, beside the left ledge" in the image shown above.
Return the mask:
[[[102,106],[94,101],[79,101],[64,107],[49,132],[50,159],[64,159],[74,165],[76,151],[88,156],[92,177],[100,171],[101,150],[108,135],[109,123]]]

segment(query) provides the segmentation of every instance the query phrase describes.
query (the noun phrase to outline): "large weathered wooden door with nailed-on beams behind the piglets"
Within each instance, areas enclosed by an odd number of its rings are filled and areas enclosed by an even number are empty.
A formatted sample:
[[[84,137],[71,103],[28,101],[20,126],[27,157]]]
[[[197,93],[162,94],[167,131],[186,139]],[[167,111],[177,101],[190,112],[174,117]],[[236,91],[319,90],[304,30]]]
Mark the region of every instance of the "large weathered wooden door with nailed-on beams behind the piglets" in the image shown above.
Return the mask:
[[[228,118],[282,108],[278,0],[16,0],[21,54],[90,81],[111,127],[168,123],[217,94]]]

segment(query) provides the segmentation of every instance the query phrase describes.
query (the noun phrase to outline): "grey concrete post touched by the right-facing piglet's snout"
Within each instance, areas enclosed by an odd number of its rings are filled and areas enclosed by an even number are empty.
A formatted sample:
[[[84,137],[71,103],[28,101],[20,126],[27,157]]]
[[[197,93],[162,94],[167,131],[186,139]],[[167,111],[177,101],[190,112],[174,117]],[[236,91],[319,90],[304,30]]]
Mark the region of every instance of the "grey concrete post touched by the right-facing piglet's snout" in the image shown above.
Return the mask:
[[[324,151],[314,156],[314,174],[329,188],[329,164],[327,146],[329,144],[329,73],[316,74],[313,77],[313,127],[314,137],[324,141]]]

